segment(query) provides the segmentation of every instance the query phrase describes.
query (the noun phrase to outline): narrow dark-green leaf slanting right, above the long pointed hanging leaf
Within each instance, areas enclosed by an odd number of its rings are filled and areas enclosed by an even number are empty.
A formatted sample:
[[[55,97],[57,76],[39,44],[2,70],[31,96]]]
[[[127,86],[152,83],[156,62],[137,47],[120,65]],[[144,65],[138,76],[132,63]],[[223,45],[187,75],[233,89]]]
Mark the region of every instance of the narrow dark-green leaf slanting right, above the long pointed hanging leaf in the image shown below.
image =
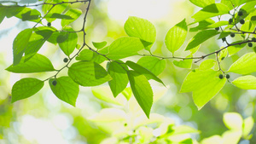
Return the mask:
[[[165,85],[160,78],[157,78],[153,72],[150,72],[147,68],[138,65],[137,63],[127,60],[125,64],[129,67],[131,67],[135,72],[143,74],[148,79],[154,79],[156,82],[159,82],[163,85]]]

